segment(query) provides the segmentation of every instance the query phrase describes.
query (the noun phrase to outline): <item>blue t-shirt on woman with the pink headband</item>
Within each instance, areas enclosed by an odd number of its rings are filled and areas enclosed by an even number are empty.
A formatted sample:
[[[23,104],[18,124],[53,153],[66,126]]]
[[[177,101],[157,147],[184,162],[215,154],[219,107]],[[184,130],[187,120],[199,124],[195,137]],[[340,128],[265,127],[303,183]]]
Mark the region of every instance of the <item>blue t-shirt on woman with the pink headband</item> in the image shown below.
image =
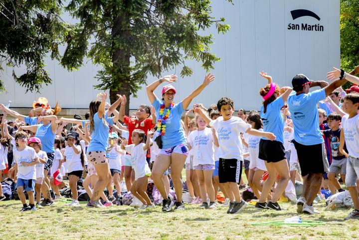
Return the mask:
[[[267,105],[267,110],[264,113],[264,106],[261,106],[261,119],[263,122],[263,131],[273,133],[277,138],[276,141],[284,143],[283,130],[284,130],[284,118],[281,113],[281,108],[284,106],[282,96],[278,97],[273,102]],[[269,140],[262,137],[262,139]]]

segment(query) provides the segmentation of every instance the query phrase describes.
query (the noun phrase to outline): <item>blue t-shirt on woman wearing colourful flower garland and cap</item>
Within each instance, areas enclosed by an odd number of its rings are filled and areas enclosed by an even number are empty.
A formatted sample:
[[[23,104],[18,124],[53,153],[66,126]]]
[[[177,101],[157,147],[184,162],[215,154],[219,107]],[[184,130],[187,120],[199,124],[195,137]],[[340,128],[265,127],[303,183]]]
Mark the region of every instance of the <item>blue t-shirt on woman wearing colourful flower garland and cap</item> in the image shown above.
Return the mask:
[[[156,98],[152,105],[156,109],[157,119],[160,118],[160,108],[163,102]],[[184,134],[184,130],[180,125],[182,112],[184,111],[182,102],[179,102],[173,106],[170,112],[170,116],[165,120],[166,133],[162,136],[162,148],[172,148],[179,144],[187,144],[187,139]],[[165,114],[167,109],[165,108]]]

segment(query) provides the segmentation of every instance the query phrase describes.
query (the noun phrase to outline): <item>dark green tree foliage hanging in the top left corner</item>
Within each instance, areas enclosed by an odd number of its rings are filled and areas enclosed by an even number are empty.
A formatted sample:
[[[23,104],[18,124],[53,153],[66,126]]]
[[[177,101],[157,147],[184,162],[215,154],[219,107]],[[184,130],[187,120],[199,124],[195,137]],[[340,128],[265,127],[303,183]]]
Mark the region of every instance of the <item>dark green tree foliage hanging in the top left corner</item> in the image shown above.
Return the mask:
[[[44,69],[44,58],[60,59],[58,45],[63,44],[69,24],[63,22],[59,0],[1,0],[0,1],[0,71],[2,64],[26,72],[12,75],[17,83],[30,91],[38,91],[51,79]],[[0,79],[0,91],[4,91]]]

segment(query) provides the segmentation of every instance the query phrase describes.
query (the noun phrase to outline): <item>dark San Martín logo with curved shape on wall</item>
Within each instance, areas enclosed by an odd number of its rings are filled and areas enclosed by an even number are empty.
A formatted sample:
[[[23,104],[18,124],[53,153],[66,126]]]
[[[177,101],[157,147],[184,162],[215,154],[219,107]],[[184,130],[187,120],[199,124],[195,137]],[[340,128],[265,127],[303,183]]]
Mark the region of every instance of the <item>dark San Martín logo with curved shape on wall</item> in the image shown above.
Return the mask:
[[[292,10],[291,11],[291,15],[293,20],[303,17],[303,16],[310,16],[313,17],[315,19],[317,19],[318,21],[320,21],[320,17],[314,13],[313,11],[307,10],[307,9],[296,9],[296,10]],[[302,30],[302,31],[324,31],[324,26],[317,23],[317,24],[308,24],[308,23],[289,23],[288,30]]]

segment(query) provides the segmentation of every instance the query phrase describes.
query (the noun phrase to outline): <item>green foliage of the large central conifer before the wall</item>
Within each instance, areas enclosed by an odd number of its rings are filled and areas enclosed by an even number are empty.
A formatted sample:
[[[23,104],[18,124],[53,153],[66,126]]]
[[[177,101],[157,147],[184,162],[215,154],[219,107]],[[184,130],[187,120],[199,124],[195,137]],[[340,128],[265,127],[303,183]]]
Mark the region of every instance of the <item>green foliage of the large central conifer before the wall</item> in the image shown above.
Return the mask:
[[[229,30],[224,18],[210,15],[210,0],[71,0],[66,10],[80,22],[67,37],[61,64],[72,70],[87,56],[102,66],[96,87],[110,89],[111,101],[118,93],[136,96],[148,73],[160,76],[183,64],[180,75],[191,75],[187,58],[213,68],[219,60],[210,53],[213,35],[198,31],[212,24]]]

